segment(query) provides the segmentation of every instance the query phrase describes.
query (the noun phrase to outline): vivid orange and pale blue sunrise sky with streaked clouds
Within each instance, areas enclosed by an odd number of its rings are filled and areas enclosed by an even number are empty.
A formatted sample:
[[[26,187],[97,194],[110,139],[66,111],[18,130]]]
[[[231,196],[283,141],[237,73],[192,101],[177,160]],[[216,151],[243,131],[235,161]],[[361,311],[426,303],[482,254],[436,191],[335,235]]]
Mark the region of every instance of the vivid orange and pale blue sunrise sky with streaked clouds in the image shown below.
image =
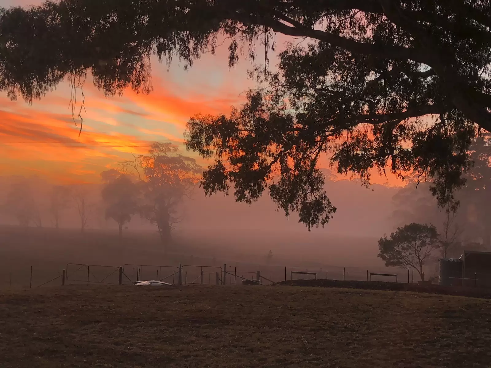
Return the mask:
[[[3,7],[32,3],[39,1],[0,0]],[[284,41],[276,39],[277,50],[283,48]],[[232,106],[239,107],[246,90],[255,86],[255,81],[246,77],[252,68],[250,61],[243,58],[237,67],[229,69],[227,56],[224,45],[215,55],[203,55],[188,70],[178,62],[168,67],[152,60],[153,91],[146,96],[127,90],[121,97],[107,98],[88,76],[83,86],[86,112],[80,137],[69,107],[68,82],[32,105],[11,101],[6,93],[0,93],[2,175],[41,175],[53,182],[94,183],[100,180],[100,172],[117,167],[132,153],[145,153],[151,142],[170,141],[184,153],[183,133],[192,115],[227,114]],[[199,159],[194,153],[187,155]],[[400,185],[394,178],[377,175],[373,182]]]

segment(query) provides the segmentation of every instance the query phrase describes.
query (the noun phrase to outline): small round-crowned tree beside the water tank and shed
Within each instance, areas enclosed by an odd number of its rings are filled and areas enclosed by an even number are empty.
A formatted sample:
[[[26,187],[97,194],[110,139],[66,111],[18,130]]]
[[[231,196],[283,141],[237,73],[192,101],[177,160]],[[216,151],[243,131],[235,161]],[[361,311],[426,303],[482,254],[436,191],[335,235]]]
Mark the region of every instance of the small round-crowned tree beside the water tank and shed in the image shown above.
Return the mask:
[[[378,256],[386,266],[414,268],[421,280],[424,280],[423,266],[439,246],[439,235],[435,226],[412,222],[397,228],[390,238],[380,238]]]

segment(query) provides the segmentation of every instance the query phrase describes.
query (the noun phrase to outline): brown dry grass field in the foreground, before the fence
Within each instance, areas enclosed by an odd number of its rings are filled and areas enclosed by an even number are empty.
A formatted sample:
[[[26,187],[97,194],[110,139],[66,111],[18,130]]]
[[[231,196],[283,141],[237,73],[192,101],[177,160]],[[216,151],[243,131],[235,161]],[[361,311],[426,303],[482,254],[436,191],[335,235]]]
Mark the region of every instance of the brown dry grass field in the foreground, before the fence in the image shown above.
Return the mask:
[[[490,367],[491,302],[300,287],[0,293],[0,367]]]

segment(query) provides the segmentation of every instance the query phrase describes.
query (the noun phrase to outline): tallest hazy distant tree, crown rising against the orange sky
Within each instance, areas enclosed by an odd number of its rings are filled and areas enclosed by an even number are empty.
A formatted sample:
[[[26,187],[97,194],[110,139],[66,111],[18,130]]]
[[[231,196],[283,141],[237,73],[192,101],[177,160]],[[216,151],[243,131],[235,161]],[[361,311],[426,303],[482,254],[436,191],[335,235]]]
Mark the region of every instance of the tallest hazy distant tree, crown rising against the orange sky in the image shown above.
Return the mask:
[[[201,167],[193,158],[177,154],[172,144],[153,143],[148,155],[124,162],[123,168],[134,169],[142,182],[140,214],[157,225],[166,250],[173,225],[180,221],[180,205],[191,194]]]

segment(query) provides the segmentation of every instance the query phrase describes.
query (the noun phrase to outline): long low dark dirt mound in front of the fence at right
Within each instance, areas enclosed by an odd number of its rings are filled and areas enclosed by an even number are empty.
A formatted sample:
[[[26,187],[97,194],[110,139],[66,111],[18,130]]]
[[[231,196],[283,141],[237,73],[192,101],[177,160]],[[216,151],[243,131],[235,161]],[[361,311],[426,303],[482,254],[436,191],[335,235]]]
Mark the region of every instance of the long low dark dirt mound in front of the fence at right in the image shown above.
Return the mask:
[[[491,299],[491,289],[445,287],[441,285],[418,285],[405,283],[390,283],[381,281],[342,281],[342,280],[286,280],[276,283],[278,286],[307,286],[321,288],[347,288],[391,291],[415,291],[430,294],[458,295],[474,298]]]

